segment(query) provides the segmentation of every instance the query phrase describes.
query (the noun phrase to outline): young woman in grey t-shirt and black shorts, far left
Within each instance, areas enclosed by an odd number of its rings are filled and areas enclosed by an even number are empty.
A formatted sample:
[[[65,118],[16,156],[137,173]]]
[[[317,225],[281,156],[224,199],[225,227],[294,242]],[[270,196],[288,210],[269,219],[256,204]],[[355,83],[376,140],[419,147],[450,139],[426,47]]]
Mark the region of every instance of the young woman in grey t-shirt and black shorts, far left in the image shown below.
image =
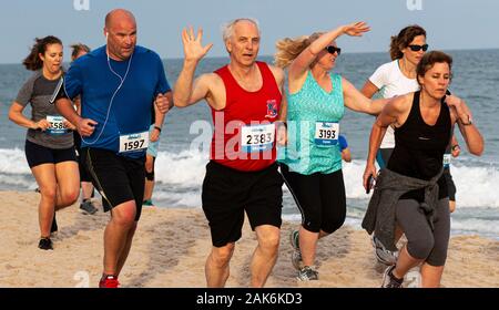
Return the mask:
[[[80,175],[71,130],[75,126],[59,114],[50,97],[62,71],[62,42],[49,35],[35,39],[23,64],[34,71],[9,110],[9,120],[27,127],[26,158],[41,195],[39,204],[40,242],[52,250],[51,232],[58,230],[55,211],[71,206],[79,194]],[[31,117],[22,114],[31,104]]]

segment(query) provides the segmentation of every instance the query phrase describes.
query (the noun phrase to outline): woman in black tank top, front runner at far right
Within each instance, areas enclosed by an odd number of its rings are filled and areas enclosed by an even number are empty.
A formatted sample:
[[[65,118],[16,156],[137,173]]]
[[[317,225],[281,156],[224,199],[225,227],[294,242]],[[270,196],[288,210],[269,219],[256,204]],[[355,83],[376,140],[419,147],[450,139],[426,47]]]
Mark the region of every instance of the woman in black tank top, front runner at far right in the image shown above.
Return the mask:
[[[436,180],[436,177],[441,174],[444,153],[456,123],[468,151],[478,156],[483,152],[483,138],[472,123],[471,113],[466,103],[457,96],[446,96],[450,83],[451,64],[452,59],[442,52],[427,53],[417,68],[417,79],[421,91],[398,96],[388,102],[373,125],[364,186],[367,188],[369,176],[376,176],[376,153],[386,128],[391,125],[395,127],[396,146],[387,169],[383,174],[399,178],[397,190],[404,194],[391,196],[396,197],[395,207],[378,204],[376,215],[384,214],[386,217],[387,209],[393,211],[393,217],[389,219],[395,219],[401,226],[408,239],[407,245],[400,250],[397,264],[385,271],[383,287],[401,287],[404,276],[409,269],[421,264],[422,287],[440,286],[450,231],[445,179],[438,180],[438,203],[430,208],[426,205],[430,199],[425,200],[428,198],[425,197],[425,193],[428,193],[425,192],[426,187],[404,190],[406,188],[404,186],[418,180],[422,180],[420,184],[428,184],[430,179]],[[429,185],[426,186],[429,187]],[[380,178],[374,194],[374,196],[377,195],[376,203],[389,200],[384,198],[394,193],[384,187]],[[369,204],[370,207],[371,204]],[[435,211],[435,218],[438,217],[438,220],[434,220],[432,215],[425,214],[428,210]],[[383,220],[386,219],[377,218],[376,225],[380,225]]]

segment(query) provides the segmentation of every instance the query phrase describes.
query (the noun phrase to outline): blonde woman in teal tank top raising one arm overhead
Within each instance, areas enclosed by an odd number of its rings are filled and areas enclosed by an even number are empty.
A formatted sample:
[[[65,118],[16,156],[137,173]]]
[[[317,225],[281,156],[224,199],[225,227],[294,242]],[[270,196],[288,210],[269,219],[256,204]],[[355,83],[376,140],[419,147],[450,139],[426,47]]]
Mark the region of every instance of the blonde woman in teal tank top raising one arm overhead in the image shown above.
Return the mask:
[[[355,86],[332,73],[342,34],[360,37],[364,22],[325,33],[277,42],[275,62],[288,66],[287,145],[279,154],[281,170],[302,213],[302,226],[291,234],[293,265],[298,280],[317,280],[314,268],[317,240],[345,221],[346,198],[338,136],[345,106],[378,114],[386,100],[370,101]]]

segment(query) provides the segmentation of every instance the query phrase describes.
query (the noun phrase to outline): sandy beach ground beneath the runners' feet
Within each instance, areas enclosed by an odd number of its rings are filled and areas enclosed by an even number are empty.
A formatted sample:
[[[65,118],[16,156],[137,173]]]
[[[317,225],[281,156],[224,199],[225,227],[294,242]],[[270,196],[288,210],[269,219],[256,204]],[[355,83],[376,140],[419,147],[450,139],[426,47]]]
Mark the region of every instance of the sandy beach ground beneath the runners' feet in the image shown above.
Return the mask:
[[[83,215],[78,206],[58,213],[53,251],[38,249],[38,194],[0,192],[0,287],[96,287],[102,270],[103,228],[109,219],[100,209]],[[320,280],[298,282],[291,264],[289,230],[284,223],[277,264],[266,287],[379,287],[383,266],[373,255],[364,230],[345,226],[318,246]],[[245,225],[236,244],[227,287],[247,287],[248,262],[256,246]],[[205,287],[204,262],[211,248],[201,208],[145,208],[131,255],[120,276],[122,287]],[[455,236],[442,286],[499,287],[499,241],[479,236]]]

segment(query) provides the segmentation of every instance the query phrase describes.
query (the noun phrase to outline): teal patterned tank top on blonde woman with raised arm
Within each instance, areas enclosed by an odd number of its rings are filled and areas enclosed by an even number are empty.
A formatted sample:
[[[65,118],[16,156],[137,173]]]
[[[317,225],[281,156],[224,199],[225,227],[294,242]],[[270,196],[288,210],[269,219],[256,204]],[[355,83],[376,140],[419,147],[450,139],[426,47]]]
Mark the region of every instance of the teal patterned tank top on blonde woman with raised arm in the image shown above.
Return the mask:
[[[287,95],[287,145],[278,161],[303,175],[329,174],[342,169],[339,121],[345,114],[342,76],[330,74],[327,93],[308,71],[303,87]]]

